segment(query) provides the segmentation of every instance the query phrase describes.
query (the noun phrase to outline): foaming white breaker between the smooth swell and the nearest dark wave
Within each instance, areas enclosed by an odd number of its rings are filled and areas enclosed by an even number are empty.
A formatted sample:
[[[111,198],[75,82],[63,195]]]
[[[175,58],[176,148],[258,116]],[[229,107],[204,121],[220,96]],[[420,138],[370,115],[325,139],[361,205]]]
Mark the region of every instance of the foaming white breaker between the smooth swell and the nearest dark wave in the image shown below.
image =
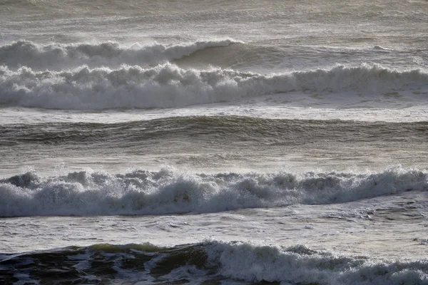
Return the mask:
[[[71,172],[47,178],[27,172],[0,180],[0,216],[222,212],[350,202],[411,190],[428,190],[427,171],[207,175],[135,170],[120,175]]]

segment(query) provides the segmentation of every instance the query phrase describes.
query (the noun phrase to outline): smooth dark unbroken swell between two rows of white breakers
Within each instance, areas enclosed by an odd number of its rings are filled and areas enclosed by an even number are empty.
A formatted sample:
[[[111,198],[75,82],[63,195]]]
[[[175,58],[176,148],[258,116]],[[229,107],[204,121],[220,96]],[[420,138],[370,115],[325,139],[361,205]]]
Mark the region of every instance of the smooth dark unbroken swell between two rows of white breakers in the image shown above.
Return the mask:
[[[126,147],[172,140],[255,142],[302,145],[305,142],[427,142],[428,123],[343,120],[282,120],[239,116],[188,116],[125,123],[42,123],[0,125],[0,145],[81,145]],[[409,140],[412,138],[412,140]]]

